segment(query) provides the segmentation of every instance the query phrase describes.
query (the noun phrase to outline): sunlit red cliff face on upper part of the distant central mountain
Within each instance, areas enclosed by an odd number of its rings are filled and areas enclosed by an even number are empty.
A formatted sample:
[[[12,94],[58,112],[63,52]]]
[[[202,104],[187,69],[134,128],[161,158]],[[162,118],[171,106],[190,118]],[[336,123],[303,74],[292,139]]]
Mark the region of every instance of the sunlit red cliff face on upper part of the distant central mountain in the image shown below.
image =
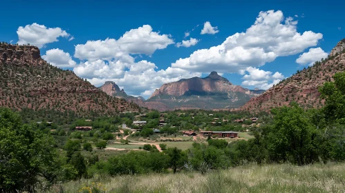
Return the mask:
[[[242,92],[250,94],[250,90],[241,87],[240,85],[233,85],[227,79],[219,76],[217,72],[212,72],[208,77],[192,79],[182,79],[174,83],[165,83],[157,89],[150,96],[159,96],[167,94],[171,96],[181,96],[187,91],[196,92]]]

